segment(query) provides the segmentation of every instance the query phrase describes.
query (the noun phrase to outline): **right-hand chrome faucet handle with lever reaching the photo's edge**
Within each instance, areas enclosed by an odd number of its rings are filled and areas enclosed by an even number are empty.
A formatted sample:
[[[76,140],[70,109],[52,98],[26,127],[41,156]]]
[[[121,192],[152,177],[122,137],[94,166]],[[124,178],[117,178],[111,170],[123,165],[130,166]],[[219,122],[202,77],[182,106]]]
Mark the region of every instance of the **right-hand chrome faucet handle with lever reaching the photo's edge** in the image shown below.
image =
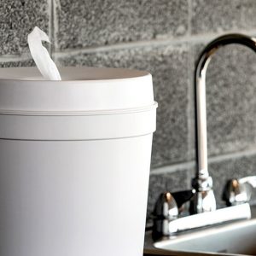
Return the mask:
[[[248,202],[253,188],[256,188],[256,176],[233,178],[224,187],[223,200],[228,207]]]

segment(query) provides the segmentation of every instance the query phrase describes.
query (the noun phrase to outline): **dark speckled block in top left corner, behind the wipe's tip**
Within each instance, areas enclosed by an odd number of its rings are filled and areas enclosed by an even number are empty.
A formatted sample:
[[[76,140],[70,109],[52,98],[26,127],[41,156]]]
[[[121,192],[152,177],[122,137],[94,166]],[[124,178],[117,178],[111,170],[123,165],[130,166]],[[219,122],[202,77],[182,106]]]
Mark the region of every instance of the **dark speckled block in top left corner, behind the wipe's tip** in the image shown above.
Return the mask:
[[[48,0],[4,0],[0,4],[0,55],[27,51],[26,37],[34,26],[49,32]]]

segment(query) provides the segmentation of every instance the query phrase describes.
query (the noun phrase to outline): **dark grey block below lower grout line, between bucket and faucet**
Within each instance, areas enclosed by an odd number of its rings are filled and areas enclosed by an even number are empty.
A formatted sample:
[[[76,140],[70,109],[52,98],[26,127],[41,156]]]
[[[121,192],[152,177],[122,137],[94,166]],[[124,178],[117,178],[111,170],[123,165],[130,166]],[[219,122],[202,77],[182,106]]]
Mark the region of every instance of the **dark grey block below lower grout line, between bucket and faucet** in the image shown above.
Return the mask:
[[[148,216],[151,212],[153,212],[155,202],[161,193],[166,191],[177,192],[184,189],[189,189],[189,172],[191,172],[191,170],[178,170],[177,172],[172,173],[150,175],[148,189]]]

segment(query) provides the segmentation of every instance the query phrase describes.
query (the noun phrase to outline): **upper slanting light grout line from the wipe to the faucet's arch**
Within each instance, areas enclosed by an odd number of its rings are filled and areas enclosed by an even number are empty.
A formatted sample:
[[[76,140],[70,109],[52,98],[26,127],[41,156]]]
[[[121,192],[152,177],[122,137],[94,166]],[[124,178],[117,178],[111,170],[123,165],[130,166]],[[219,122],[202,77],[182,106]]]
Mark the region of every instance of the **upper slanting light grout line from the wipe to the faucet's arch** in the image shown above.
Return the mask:
[[[56,1],[56,0],[55,0]],[[55,21],[56,22],[56,21]],[[56,26],[56,24],[55,24]],[[199,34],[199,35],[184,35],[183,37],[178,38],[165,38],[165,39],[152,39],[147,41],[136,41],[131,43],[119,43],[119,44],[112,44],[112,45],[104,45],[104,46],[96,46],[96,47],[88,47],[83,49],[67,49],[64,51],[55,51],[55,57],[65,57],[69,55],[78,55],[81,53],[96,53],[108,50],[115,50],[115,49],[131,49],[135,47],[144,47],[144,46],[154,46],[154,45],[166,45],[170,44],[170,46],[175,46],[177,44],[189,43],[189,44],[198,44],[198,43],[207,43],[213,38],[218,37],[224,33],[246,33],[249,35],[256,35],[256,30],[230,30],[226,32],[213,32],[213,33],[206,33],[206,34]]]

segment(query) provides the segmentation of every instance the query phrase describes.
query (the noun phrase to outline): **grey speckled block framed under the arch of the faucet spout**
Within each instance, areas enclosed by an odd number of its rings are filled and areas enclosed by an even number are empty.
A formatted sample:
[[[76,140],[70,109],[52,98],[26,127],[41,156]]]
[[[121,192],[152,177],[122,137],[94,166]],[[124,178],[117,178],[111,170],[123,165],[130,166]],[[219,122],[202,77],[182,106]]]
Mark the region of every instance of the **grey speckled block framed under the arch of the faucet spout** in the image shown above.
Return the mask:
[[[195,56],[203,46],[195,47]],[[207,69],[208,154],[226,154],[255,147],[256,55],[229,45],[213,55]]]

